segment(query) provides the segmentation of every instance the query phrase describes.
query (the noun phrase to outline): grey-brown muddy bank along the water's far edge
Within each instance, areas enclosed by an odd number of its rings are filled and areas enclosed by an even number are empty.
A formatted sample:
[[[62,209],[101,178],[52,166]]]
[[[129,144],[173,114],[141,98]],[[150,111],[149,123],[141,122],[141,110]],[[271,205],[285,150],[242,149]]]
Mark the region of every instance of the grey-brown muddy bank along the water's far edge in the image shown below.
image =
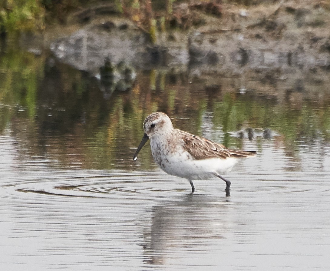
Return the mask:
[[[180,64],[233,71],[242,67],[329,69],[330,12],[321,3],[223,4],[221,16],[194,11],[191,15],[199,14],[203,24],[159,31],[154,45],[130,20],[95,15],[87,24],[80,23],[77,31],[52,41],[50,49],[60,61],[86,71],[101,67],[105,58],[143,69]],[[175,8],[189,15],[187,4]],[[83,21],[81,13],[71,21],[75,18]]]

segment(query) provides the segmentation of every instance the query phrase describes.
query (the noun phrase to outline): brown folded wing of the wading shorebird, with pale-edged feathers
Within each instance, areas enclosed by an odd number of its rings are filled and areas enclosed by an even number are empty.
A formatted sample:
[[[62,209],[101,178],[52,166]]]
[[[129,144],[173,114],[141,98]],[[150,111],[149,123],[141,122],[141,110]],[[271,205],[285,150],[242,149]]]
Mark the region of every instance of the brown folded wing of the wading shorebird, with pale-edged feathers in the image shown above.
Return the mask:
[[[238,151],[227,149],[225,146],[215,143],[203,137],[194,136],[189,133],[180,131],[183,135],[183,148],[191,154],[196,160],[208,158],[247,158],[254,156],[255,151]]]

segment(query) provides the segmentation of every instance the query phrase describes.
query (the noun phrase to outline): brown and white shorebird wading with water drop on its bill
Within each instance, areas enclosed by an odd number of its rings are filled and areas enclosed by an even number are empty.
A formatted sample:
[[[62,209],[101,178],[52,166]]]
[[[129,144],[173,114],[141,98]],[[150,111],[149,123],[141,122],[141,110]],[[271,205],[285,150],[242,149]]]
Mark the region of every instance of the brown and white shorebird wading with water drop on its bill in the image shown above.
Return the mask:
[[[174,129],[171,119],[162,112],[150,114],[143,123],[144,136],[133,160],[150,139],[151,153],[156,164],[167,174],[185,178],[195,191],[193,180],[218,177],[226,182],[230,196],[231,182],[220,174],[231,171],[237,159],[255,156],[255,151],[228,149],[203,137]]]

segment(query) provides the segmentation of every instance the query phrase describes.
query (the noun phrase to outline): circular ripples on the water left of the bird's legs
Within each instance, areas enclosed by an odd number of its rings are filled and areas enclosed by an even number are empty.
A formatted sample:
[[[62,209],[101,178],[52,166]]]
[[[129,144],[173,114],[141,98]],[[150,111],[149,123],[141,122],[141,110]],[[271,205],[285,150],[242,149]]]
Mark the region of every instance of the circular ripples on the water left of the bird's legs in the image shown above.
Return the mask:
[[[171,192],[189,192],[190,189],[184,180],[158,171],[112,174],[74,171],[51,176],[43,174],[42,177],[25,176],[24,183],[13,180],[4,187],[7,192],[10,189],[16,193],[73,197],[122,197],[124,195],[139,198],[150,194],[161,196]]]

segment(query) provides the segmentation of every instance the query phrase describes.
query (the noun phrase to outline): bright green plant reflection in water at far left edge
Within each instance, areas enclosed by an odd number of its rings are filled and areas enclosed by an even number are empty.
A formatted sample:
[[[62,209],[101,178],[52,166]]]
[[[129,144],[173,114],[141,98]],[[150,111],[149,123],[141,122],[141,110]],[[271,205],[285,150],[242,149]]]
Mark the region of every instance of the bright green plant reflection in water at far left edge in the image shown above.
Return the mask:
[[[33,119],[43,67],[44,58],[30,53],[11,51],[3,55],[0,61],[0,103],[8,108],[18,105],[26,109],[28,117]],[[7,110],[7,113],[12,111],[13,108]],[[3,121],[2,127],[5,125]]]

